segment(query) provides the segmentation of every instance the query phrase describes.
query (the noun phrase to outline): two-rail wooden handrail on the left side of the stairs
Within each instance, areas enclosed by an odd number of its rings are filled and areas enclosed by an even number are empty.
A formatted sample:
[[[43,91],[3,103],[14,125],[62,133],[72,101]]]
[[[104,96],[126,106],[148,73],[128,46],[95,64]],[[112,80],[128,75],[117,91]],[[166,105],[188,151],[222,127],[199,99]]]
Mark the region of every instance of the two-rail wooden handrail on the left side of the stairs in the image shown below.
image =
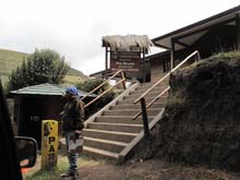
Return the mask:
[[[121,73],[122,75],[122,80],[120,80],[118,83],[116,83],[113,86],[111,86],[110,88],[106,89],[105,92],[103,92],[100,95],[98,95],[97,97],[95,97],[93,100],[91,100],[89,103],[87,103],[86,105],[84,105],[84,108],[88,107],[89,105],[92,105],[93,103],[95,103],[97,99],[99,99],[100,97],[103,97],[106,93],[108,93],[109,91],[111,91],[115,86],[119,85],[120,83],[123,84],[123,88],[125,88],[125,76],[124,73],[122,72],[122,70],[117,71],[113,75],[111,75],[108,80],[106,80],[105,82],[103,82],[100,85],[98,85],[96,88],[94,88],[93,91],[91,91],[89,93],[87,93],[85,96],[83,96],[81,98],[81,100],[83,100],[85,97],[87,97],[89,94],[94,93],[95,91],[97,91],[98,88],[103,87],[109,80],[113,79],[116,75],[118,75],[119,73]]]

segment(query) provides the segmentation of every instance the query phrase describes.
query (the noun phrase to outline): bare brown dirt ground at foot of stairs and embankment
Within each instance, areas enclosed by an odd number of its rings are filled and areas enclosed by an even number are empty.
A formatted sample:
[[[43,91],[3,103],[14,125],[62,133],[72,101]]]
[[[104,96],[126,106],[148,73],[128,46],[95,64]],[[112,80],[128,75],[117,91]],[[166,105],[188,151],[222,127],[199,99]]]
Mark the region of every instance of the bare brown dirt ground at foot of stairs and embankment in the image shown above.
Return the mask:
[[[129,163],[123,166],[110,164],[82,167],[81,180],[240,180],[240,175],[203,167],[170,165],[163,160]]]

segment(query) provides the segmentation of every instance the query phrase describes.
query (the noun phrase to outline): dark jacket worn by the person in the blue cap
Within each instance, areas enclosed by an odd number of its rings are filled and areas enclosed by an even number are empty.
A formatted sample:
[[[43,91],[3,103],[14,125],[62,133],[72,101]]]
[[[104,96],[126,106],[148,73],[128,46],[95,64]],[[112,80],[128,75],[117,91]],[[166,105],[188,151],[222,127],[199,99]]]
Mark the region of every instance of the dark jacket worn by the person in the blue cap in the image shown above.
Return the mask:
[[[62,130],[64,132],[82,130],[84,128],[84,110],[81,108],[83,104],[77,96],[73,96],[65,104],[62,117]]]

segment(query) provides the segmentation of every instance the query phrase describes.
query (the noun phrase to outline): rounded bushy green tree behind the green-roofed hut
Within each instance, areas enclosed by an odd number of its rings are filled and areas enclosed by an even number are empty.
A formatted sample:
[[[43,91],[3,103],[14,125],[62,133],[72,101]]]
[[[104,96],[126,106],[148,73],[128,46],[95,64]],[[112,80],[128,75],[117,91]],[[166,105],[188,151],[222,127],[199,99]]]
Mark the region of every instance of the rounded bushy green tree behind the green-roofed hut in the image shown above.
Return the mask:
[[[64,57],[50,49],[36,49],[9,76],[9,91],[43,83],[62,83],[70,67]]]

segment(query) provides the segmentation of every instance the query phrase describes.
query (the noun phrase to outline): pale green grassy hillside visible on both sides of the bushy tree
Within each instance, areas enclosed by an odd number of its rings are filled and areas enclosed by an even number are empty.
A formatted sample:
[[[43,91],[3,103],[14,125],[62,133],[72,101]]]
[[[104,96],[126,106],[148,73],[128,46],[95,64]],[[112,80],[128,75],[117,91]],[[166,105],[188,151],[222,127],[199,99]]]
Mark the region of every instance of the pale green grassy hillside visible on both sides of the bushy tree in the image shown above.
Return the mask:
[[[5,85],[8,82],[11,71],[21,65],[23,59],[27,56],[28,53],[0,49],[0,76],[3,85]],[[64,84],[75,84],[79,81],[86,79],[87,76],[84,75],[81,71],[71,68],[64,77]]]

